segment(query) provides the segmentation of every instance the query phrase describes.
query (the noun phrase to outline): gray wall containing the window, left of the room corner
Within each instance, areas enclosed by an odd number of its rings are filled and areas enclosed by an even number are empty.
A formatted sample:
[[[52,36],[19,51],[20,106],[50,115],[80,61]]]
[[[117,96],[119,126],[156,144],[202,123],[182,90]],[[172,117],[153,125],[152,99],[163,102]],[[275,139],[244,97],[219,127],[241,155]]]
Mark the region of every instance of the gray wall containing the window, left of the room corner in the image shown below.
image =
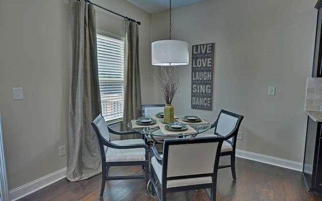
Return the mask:
[[[142,90],[149,90],[150,15],[124,0],[95,3],[142,22]],[[97,27],[124,36],[124,21],[96,9]],[[69,17],[67,0],[0,0],[0,108],[10,189],[66,167]],[[24,88],[12,100],[12,87]],[[142,94],[143,103],[153,102]]]

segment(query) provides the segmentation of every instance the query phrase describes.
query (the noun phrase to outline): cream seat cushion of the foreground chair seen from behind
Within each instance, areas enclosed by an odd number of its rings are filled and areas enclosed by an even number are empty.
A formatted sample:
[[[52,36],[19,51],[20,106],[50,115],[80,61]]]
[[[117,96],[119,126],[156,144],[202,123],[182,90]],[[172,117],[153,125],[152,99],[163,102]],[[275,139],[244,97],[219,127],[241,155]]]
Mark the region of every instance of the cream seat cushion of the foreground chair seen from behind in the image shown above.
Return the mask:
[[[160,155],[163,156],[163,155]],[[159,182],[162,184],[162,165],[160,165],[155,156],[151,158],[151,166],[155,170],[156,176]],[[198,178],[187,178],[187,179],[173,179],[167,181],[167,188],[186,186],[186,185],[197,185],[197,184],[205,184],[212,183],[211,176],[203,176]]]

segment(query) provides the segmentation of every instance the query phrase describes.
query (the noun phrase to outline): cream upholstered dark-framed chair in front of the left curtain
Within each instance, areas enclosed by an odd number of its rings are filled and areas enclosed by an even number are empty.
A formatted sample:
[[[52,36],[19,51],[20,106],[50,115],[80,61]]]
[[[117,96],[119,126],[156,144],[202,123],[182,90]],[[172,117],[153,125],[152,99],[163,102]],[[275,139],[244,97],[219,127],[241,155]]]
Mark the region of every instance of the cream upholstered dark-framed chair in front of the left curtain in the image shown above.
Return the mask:
[[[100,114],[92,126],[97,134],[101,156],[102,156],[102,186],[100,197],[103,197],[106,180],[116,179],[145,179],[145,186],[148,180],[148,146],[142,139],[110,141],[109,133],[117,135],[134,134],[135,132],[117,132],[111,129]],[[144,175],[108,176],[110,166],[131,166],[140,165],[145,169]],[[146,189],[146,188],[145,188]],[[147,193],[147,190],[145,190]]]

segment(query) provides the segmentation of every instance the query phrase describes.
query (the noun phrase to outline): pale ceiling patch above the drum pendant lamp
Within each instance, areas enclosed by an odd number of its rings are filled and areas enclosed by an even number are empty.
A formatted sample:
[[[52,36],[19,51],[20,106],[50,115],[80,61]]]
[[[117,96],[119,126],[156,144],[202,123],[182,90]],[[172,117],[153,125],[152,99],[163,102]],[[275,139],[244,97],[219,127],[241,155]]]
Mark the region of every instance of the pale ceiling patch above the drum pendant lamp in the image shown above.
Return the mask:
[[[131,4],[143,9],[144,11],[153,14],[160,11],[165,11],[169,9],[169,0],[126,0]],[[203,0],[172,0],[171,7],[177,8],[193,4],[196,2],[201,2]]]

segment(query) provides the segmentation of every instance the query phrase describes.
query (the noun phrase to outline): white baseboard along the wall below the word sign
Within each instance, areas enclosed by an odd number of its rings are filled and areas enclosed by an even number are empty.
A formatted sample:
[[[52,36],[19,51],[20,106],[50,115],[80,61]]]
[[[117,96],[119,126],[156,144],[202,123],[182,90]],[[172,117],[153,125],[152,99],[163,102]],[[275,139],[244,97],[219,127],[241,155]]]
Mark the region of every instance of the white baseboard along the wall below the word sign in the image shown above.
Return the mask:
[[[266,163],[266,164],[275,165],[279,167],[284,167],[287,169],[292,169],[300,172],[303,169],[303,163],[286,160],[282,158],[277,158],[273,156],[253,153],[249,151],[238,150],[238,149],[236,149],[236,157],[254,160],[261,163]]]

